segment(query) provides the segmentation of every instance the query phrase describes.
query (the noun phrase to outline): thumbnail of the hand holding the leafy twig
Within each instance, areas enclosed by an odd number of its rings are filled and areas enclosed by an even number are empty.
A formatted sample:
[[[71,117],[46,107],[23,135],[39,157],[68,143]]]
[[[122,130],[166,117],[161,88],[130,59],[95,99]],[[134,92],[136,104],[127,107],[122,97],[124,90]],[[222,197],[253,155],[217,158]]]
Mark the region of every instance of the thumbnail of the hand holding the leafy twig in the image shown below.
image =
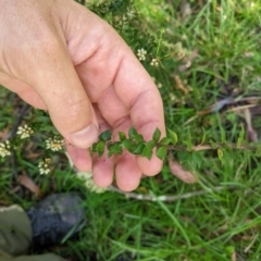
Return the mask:
[[[89,148],[98,139],[98,128],[95,124],[89,125],[88,127],[71,134],[71,141],[74,146],[78,148]]]

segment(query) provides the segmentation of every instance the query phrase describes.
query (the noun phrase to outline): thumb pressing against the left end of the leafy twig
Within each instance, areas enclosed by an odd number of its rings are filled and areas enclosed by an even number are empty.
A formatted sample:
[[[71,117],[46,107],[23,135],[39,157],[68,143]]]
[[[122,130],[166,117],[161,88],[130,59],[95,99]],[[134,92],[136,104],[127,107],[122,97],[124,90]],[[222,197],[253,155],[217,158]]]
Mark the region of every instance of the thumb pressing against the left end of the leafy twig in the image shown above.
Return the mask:
[[[34,72],[29,84],[42,99],[61,135],[78,148],[88,148],[99,135],[91,102],[65,48],[51,45],[44,49],[30,59]]]

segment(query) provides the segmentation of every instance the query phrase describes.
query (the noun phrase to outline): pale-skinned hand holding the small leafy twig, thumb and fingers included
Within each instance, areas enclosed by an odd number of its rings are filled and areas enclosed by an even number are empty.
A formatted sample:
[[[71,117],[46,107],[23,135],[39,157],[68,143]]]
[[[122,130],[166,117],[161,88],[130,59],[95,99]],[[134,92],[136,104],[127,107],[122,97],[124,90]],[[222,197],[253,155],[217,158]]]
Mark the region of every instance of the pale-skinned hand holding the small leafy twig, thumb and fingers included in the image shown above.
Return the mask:
[[[80,171],[105,187],[135,189],[162,162],[128,152],[90,157],[100,132],[137,128],[165,135],[163,105],[151,77],[117,33],[73,0],[0,0],[0,84],[47,110]]]

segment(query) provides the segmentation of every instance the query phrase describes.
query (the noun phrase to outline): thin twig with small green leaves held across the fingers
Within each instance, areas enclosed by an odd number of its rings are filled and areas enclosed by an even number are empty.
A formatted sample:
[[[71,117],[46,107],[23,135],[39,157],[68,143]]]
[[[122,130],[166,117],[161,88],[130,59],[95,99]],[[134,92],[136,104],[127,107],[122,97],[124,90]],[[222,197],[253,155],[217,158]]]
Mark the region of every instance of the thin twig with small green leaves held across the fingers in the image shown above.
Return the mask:
[[[161,138],[161,132],[157,128],[152,135],[152,139],[145,141],[141,134],[137,133],[134,127],[128,130],[128,136],[119,132],[119,140],[112,141],[112,133],[110,129],[101,133],[99,135],[99,141],[94,144],[91,151],[97,152],[101,157],[104,151],[108,151],[108,157],[113,154],[122,154],[123,150],[127,150],[132,154],[137,154],[151,159],[153,150],[156,150],[156,156],[160,160],[164,160],[167,151],[200,151],[200,150],[217,150],[219,157],[222,157],[223,149],[238,149],[238,150],[251,150],[256,151],[256,156],[261,156],[261,145],[251,146],[244,144],[245,135],[240,134],[237,144],[228,142],[214,142],[210,140],[208,144],[200,144],[192,146],[190,144],[186,146],[177,146],[177,135],[171,129],[167,129],[167,136]]]

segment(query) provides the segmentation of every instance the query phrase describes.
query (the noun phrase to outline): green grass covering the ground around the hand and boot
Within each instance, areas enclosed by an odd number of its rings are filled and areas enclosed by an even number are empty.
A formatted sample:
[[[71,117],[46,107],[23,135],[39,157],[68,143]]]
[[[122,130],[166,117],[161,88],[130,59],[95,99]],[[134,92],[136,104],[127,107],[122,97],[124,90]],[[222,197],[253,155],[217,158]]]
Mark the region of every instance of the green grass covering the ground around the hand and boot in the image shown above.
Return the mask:
[[[260,98],[261,4],[258,0],[188,1],[191,12],[184,18],[182,1],[137,0],[134,5],[114,1],[110,7],[94,7],[94,2],[87,5],[112,23],[134,52],[145,48],[150,59],[160,59],[159,67],[151,66],[149,59],[144,65],[157,85],[162,85],[166,124],[176,132],[178,145],[198,145],[202,139],[237,142],[241,129],[247,132],[244,114],[233,111],[232,105],[206,115],[198,112],[231,95]],[[137,23],[137,17],[142,23]],[[184,63],[189,62],[185,60],[196,50],[197,57],[184,69]],[[181,55],[185,58],[181,60]],[[173,75],[189,89],[187,94]],[[3,130],[13,124],[17,98],[3,89],[0,97]],[[236,103],[234,109],[245,104]],[[22,102],[16,100],[15,111],[21,107]],[[260,133],[259,113],[253,110],[250,113],[253,128]],[[261,260],[261,163],[254,152],[223,149],[223,157],[215,150],[174,152],[185,167],[198,174],[199,182],[183,183],[171,174],[166,162],[160,175],[144,179],[135,192],[190,194],[191,197],[170,202],[147,201],[113,191],[100,195],[88,191],[62,154],[55,156],[59,164],[52,175],[39,176],[38,158],[28,159],[28,150],[42,153],[46,136],[44,132],[24,147],[17,172],[26,172],[46,195],[80,190],[87,197],[89,220],[78,238],[47,251],[79,261]],[[0,202],[28,208],[36,198],[25,188],[15,190],[16,185],[11,160],[1,161]],[[216,187],[222,189],[215,190]],[[206,192],[192,194],[199,190]]]

